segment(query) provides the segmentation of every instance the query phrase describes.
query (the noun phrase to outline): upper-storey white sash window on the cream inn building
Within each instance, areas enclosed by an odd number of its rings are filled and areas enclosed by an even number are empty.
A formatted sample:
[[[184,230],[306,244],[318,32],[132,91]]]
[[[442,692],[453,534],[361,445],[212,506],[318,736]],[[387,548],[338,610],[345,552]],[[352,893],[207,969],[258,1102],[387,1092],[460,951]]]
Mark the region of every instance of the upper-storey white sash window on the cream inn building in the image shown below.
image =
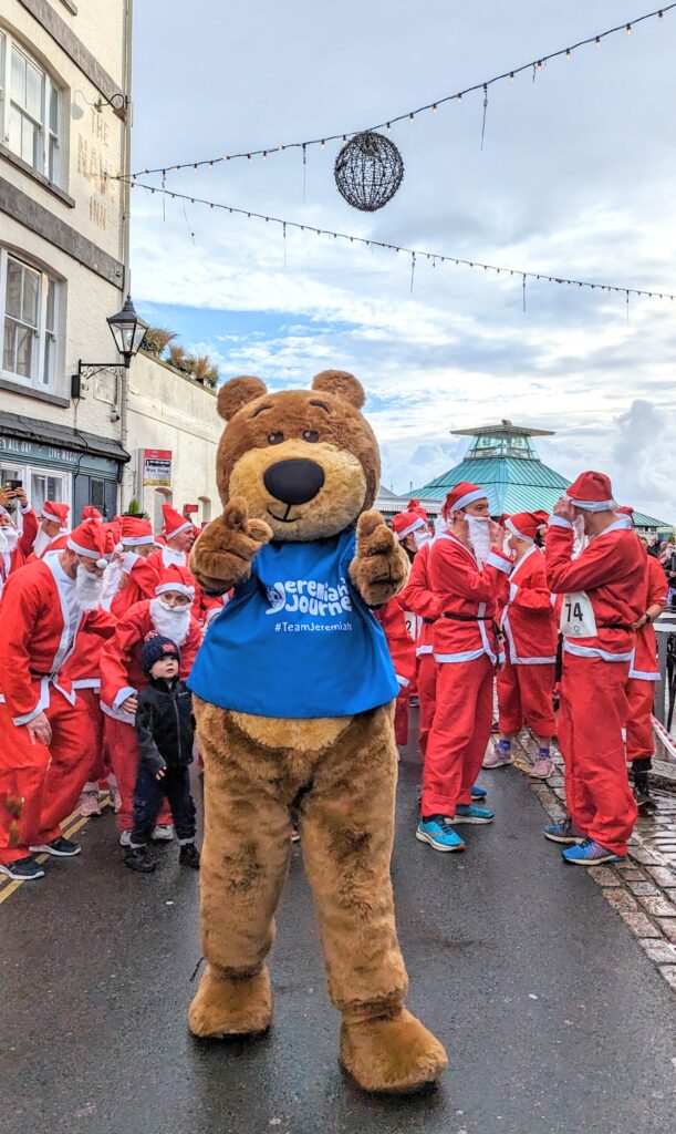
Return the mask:
[[[0,31],[0,137],[55,185],[61,178],[61,103],[49,71]]]

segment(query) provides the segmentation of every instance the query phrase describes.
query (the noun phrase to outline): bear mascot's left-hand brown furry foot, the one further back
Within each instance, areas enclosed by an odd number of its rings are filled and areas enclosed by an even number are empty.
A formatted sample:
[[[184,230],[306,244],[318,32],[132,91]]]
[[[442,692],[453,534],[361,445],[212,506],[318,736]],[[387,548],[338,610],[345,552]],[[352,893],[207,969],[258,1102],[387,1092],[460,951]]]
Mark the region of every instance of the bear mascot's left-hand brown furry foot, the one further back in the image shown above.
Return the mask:
[[[188,1013],[192,1035],[222,1040],[256,1035],[272,1021],[272,990],[267,968],[255,976],[233,979],[207,967]]]

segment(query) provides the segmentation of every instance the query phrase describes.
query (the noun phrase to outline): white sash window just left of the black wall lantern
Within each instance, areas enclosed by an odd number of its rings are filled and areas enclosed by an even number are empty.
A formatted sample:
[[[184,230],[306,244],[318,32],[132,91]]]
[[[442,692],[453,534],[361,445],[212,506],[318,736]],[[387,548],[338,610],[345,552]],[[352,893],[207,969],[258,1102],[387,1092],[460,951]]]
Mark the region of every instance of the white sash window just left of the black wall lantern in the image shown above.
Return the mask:
[[[0,248],[2,375],[50,390],[57,369],[59,284]]]

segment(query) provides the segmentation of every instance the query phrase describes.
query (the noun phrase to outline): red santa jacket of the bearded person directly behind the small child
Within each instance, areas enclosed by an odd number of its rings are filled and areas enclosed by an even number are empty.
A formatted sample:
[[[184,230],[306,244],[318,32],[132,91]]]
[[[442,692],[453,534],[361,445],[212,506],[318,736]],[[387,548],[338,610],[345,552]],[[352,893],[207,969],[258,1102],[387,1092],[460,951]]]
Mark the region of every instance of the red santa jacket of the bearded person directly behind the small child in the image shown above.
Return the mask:
[[[119,620],[115,632],[101,651],[101,708],[109,717],[115,717],[132,725],[130,713],[119,711],[127,697],[139,693],[148,683],[140,665],[140,649],[146,634],[156,633],[151,616],[152,599],[145,599],[130,607]],[[190,617],[188,636],[179,643],[181,651],[180,676],[188,677],[197,650],[202,642],[202,632],[195,618]]]

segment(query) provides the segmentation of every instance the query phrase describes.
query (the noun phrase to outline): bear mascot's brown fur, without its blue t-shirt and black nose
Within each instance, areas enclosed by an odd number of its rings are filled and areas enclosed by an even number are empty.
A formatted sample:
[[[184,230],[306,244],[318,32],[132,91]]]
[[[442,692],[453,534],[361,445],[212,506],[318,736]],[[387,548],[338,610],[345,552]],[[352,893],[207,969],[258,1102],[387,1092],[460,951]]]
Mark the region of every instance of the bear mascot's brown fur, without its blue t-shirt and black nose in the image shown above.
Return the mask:
[[[407,556],[369,510],[379,457],[359,412],[363,390],[342,371],[324,371],[313,387],[271,395],[247,376],[221,390],[223,514],[190,558],[207,591],[245,582],[269,539],[310,541],[352,524],[350,577],[363,600],[376,606],[403,587]],[[276,462],[299,457],[322,465],[324,484],[282,522],[263,477]],[[190,1008],[191,1031],[223,1038],[269,1025],[265,958],[294,806],[328,991],[343,1014],[342,1063],[370,1091],[410,1091],[433,1081],[446,1066],[444,1049],[402,1007],[408,978],[390,879],[397,761],[392,705],[353,718],[277,720],[195,699],[195,713],[205,763],[200,908],[208,967]]]

